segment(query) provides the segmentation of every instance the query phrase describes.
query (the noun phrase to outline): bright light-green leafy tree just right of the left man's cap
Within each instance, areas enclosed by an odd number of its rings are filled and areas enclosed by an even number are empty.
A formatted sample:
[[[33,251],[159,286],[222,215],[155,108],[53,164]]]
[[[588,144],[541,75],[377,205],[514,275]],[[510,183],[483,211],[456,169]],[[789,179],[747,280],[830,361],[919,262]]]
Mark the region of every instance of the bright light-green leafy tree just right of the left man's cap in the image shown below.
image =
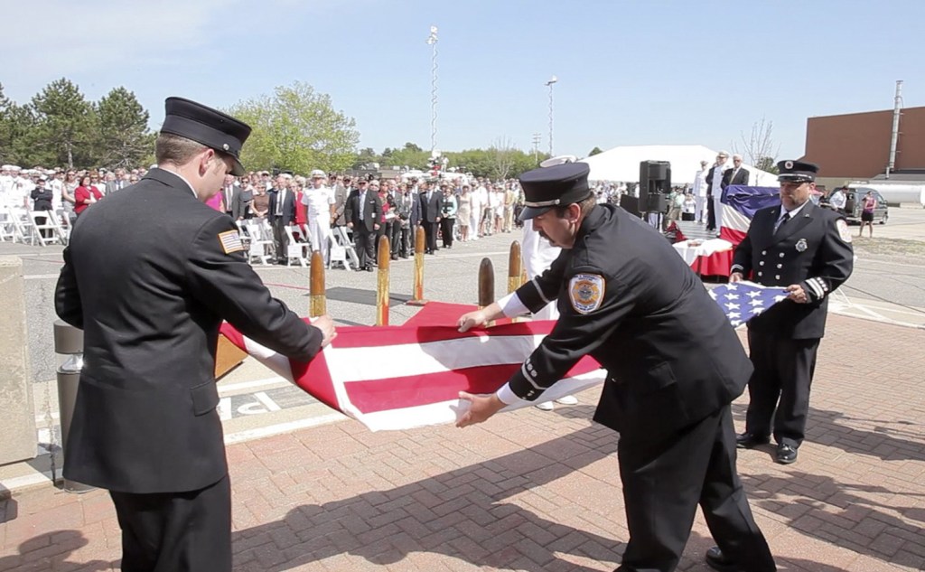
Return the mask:
[[[273,95],[240,102],[228,111],[253,128],[241,152],[245,166],[308,173],[313,168],[344,170],[356,160],[356,122],[336,111],[329,95],[316,93],[307,83],[279,86]]]

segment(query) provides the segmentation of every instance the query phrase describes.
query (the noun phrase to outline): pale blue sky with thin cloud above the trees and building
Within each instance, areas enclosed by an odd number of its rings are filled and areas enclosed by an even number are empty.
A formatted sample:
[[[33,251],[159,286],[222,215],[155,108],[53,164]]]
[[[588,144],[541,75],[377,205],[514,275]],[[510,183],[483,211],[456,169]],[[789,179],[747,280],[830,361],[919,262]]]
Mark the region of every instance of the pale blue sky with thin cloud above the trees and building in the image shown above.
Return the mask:
[[[438,26],[439,149],[503,138],[556,154],[621,144],[741,144],[765,118],[780,157],[806,120],[925,106],[922,0],[43,0],[4,3],[0,82],[23,103],[67,77],[133,91],[163,120],[182,95],[230,106],[305,81],[355,118],[360,146],[430,146]],[[38,24],[38,25],[37,25]],[[19,31],[16,31],[19,30]],[[10,33],[10,31],[13,31]]]

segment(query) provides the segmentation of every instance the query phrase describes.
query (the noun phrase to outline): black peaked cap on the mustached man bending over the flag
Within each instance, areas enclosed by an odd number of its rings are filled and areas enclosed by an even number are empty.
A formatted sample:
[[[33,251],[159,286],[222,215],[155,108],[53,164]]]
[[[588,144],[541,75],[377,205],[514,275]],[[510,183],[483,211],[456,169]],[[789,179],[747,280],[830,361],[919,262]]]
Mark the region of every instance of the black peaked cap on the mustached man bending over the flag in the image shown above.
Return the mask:
[[[587,185],[590,170],[587,163],[562,163],[525,172],[520,176],[524,189],[524,210],[520,219],[538,217],[553,206],[585,200],[591,194]]]

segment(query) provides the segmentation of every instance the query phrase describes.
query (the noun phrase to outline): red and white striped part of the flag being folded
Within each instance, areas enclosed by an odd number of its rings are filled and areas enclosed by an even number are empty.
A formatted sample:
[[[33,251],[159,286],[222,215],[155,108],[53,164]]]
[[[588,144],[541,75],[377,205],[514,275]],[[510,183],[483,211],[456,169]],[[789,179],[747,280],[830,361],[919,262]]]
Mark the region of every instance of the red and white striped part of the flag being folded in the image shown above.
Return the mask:
[[[221,331],[318,401],[376,431],[455,422],[467,405],[459,392],[497,391],[554,325],[523,322],[464,333],[445,326],[340,327],[334,342],[310,364],[290,362],[227,323]],[[585,357],[541,401],[581,392],[604,379],[598,363]]]

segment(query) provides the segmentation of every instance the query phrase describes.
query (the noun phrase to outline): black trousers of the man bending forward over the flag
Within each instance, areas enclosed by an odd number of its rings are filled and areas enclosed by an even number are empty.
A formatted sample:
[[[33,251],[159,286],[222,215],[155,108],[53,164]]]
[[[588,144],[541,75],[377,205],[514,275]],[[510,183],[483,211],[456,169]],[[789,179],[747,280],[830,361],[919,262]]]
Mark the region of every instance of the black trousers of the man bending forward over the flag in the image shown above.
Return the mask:
[[[776,570],[735,471],[729,405],[667,439],[618,445],[630,540],[618,571],[670,572],[690,536],[697,504],[722,553],[747,572]]]

